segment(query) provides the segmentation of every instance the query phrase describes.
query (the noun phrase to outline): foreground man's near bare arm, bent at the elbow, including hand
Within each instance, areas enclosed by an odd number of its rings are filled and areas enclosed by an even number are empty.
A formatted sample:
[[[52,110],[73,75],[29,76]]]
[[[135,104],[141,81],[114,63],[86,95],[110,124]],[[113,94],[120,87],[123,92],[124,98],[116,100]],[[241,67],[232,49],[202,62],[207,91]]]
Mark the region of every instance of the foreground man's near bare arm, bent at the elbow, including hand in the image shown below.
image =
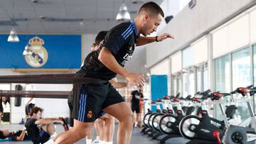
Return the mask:
[[[119,65],[117,60],[114,58],[114,55],[112,55],[112,52],[110,52],[110,50],[107,50],[107,48],[103,47],[102,50],[100,50],[98,60],[100,60],[100,62],[102,62],[102,64],[105,65],[112,72],[119,74],[121,77],[124,77],[129,82],[137,84],[137,86],[144,85],[143,75],[134,74],[124,69],[124,67]]]

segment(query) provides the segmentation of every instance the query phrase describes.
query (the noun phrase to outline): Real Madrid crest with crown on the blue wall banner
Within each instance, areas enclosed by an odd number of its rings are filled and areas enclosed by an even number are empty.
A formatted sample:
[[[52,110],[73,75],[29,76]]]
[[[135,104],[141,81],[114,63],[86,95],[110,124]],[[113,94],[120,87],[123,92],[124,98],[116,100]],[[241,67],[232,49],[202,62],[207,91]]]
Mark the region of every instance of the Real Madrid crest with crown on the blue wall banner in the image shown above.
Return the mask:
[[[28,40],[31,55],[25,55],[25,60],[31,67],[42,67],[48,60],[48,52],[43,48],[44,40],[34,37]]]

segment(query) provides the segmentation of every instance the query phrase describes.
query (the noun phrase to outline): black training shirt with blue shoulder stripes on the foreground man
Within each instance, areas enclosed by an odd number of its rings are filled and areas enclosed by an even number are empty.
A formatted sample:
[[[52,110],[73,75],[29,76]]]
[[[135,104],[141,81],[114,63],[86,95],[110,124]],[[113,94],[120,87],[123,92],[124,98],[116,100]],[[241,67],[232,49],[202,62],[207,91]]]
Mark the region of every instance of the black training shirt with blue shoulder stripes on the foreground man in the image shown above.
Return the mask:
[[[98,60],[100,50],[102,50],[103,47],[110,50],[119,65],[124,67],[125,63],[132,58],[132,53],[134,52],[138,38],[139,34],[137,33],[134,21],[131,20],[120,23],[107,33],[98,50],[87,55],[85,63],[79,72],[85,72],[85,77],[105,80],[116,77],[116,73],[109,70]]]

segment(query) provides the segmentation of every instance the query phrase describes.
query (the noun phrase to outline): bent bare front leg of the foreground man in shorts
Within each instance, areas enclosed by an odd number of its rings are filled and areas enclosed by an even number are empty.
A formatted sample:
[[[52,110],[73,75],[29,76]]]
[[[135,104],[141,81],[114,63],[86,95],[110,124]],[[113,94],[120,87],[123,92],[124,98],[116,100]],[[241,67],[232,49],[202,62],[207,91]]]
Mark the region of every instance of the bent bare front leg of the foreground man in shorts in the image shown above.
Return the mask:
[[[104,111],[119,120],[117,131],[117,144],[129,144],[132,136],[134,118],[132,111],[126,102],[120,102],[107,106]]]

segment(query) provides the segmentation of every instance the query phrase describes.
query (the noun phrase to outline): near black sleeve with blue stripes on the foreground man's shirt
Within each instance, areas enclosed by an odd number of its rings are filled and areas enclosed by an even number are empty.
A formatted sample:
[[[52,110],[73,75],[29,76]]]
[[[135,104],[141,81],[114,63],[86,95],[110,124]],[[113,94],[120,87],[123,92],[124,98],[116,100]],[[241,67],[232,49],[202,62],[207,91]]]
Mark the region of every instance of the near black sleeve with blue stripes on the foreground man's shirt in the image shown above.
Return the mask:
[[[110,50],[114,55],[122,48],[122,46],[130,40],[132,34],[131,28],[115,28],[107,34],[103,41],[103,47]]]

